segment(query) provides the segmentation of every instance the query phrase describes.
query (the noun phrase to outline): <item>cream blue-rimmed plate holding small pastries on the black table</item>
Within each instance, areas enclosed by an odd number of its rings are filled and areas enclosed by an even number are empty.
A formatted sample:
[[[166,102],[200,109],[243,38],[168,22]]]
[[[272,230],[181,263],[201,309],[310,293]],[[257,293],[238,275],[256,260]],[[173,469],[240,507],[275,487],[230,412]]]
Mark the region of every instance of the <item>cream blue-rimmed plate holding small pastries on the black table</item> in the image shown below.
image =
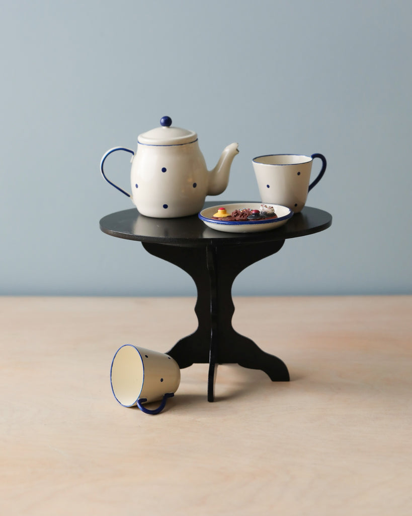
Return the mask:
[[[247,222],[230,222],[224,219],[212,219],[213,215],[219,208],[226,208],[228,213],[232,213],[235,209],[259,209],[261,204],[262,203],[260,202],[217,204],[216,206],[202,209],[199,213],[199,219],[202,220],[209,228],[216,229],[217,231],[226,231],[227,233],[254,233],[256,231],[269,231],[271,229],[279,228],[293,216],[293,211],[286,206],[281,206],[280,204],[268,204],[268,206],[273,206],[274,213],[278,216],[277,219],[248,220]]]

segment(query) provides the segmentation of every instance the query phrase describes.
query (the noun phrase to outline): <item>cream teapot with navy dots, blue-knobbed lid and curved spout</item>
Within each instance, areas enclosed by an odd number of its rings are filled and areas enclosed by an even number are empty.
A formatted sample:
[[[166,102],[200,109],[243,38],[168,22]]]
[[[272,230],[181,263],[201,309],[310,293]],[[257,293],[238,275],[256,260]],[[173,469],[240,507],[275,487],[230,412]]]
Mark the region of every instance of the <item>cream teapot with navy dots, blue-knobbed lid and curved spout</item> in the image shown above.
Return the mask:
[[[195,132],[172,127],[169,117],[163,117],[160,124],[161,127],[139,135],[136,152],[125,147],[108,150],[101,158],[101,174],[109,184],[131,197],[142,215],[194,215],[201,210],[207,195],[219,195],[227,187],[232,160],[239,152],[237,143],[228,145],[216,167],[208,171]],[[115,151],[132,154],[131,195],[109,181],[103,170],[107,156]]]

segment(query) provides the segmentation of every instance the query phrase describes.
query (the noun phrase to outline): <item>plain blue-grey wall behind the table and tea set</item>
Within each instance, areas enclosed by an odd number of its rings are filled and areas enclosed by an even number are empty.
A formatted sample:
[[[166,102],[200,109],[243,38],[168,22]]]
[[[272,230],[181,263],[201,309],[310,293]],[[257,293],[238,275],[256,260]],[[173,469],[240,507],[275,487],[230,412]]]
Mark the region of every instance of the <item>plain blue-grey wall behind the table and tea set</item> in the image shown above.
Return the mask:
[[[259,200],[256,155],[328,159],[307,204],[332,227],[288,240],[234,294],[412,293],[411,26],[406,0],[3,3],[0,293],[195,293],[98,225],[133,207],[101,155],[163,115],[198,133],[209,168],[239,143],[216,204]],[[110,167],[127,189],[126,154]]]

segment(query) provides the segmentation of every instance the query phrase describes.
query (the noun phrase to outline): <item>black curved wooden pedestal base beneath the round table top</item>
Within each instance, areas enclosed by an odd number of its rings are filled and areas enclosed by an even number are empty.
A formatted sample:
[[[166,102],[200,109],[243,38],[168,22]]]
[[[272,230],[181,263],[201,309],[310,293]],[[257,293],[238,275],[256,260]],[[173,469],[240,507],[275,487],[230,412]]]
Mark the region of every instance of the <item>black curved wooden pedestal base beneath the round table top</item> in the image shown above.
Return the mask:
[[[236,276],[252,263],[276,253],[284,240],[240,246],[182,247],[143,243],[150,253],[185,270],[195,281],[195,312],[198,328],[181,338],[168,354],[179,367],[209,363],[208,400],[214,399],[217,364],[237,363],[263,370],[272,381],[288,381],[286,365],[262,351],[250,338],[232,327],[234,305],[232,284]]]

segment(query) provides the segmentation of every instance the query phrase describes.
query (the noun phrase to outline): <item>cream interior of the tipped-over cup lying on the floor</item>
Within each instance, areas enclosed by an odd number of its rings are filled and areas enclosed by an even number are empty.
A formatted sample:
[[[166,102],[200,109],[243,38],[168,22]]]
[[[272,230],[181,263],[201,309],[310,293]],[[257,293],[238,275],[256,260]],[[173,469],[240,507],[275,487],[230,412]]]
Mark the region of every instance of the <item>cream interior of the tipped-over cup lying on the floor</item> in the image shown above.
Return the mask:
[[[143,360],[139,351],[131,345],[122,346],[114,356],[110,379],[117,401],[131,407],[139,399],[143,388]]]

